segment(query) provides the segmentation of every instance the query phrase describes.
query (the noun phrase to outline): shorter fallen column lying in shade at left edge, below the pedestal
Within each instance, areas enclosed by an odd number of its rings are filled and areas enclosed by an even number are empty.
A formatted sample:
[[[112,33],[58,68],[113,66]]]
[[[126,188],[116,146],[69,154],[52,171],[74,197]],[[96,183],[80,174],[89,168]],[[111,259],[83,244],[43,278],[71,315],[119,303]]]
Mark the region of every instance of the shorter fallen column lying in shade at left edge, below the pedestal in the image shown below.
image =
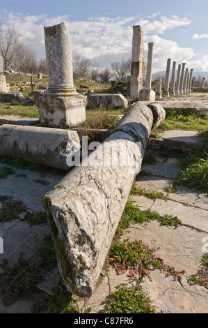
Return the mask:
[[[69,142],[71,147],[67,147]],[[67,156],[79,148],[77,131],[10,124],[0,126],[0,154],[4,156],[22,157],[26,161],[70,170]]]

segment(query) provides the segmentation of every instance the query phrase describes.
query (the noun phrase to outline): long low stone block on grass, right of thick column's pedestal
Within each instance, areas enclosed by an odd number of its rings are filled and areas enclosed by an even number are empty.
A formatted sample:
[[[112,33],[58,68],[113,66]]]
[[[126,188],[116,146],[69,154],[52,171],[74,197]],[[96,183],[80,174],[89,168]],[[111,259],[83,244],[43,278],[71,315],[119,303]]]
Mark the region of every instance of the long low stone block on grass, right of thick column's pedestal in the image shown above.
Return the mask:
[[[95,94],[88,97],[90,107],[128,107],[128,100],[122,94]]]

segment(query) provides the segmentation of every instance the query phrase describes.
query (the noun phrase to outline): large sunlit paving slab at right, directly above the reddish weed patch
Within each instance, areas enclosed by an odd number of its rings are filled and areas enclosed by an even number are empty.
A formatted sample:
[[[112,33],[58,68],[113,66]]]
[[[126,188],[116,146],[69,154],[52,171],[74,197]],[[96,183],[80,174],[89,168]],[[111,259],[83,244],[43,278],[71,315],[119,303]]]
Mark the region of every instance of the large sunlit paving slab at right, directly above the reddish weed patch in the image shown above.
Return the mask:
[[[158,248],[155,253],[157,258],[162,258],[165,264],[175,267],[177,271],[186,271],[186,275],[196,274],[200,260],[204,253],[203,238],[207,232],[197,232],[191,228],[179,226],[177,228],[161,225],[157,221],[147,225],[132,224],[128,232],[122,236],[122,240],[142,240],[150,248]]]

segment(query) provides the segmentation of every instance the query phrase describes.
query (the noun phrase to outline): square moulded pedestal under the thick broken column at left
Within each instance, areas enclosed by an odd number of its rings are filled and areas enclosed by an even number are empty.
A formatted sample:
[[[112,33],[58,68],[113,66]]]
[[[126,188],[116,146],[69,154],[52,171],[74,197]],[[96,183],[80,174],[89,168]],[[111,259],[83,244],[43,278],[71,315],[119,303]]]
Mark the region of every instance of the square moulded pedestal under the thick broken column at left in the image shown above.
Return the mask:
[[[70,128],[86,120],[86,97],[77,92],[55,94],[46,92],[36,101],[40,125]]]

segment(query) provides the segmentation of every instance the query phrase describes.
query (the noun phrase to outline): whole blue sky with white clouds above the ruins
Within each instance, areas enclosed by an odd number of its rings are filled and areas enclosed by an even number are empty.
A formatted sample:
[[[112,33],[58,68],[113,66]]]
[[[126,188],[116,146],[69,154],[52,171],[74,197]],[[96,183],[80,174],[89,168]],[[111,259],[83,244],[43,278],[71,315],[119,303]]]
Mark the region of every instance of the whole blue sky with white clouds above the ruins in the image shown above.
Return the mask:
[[[38,58],[45,57],[43,27],[65,22],[72,52],[107,67],[131,57],[132,26],[141,24],[146,57],[147,43],[154,42],[153,73],[165,70],[168,58],[197,70],[206,66],[207,0],[0,0],[0,8],[0,16],[19,27]]]

